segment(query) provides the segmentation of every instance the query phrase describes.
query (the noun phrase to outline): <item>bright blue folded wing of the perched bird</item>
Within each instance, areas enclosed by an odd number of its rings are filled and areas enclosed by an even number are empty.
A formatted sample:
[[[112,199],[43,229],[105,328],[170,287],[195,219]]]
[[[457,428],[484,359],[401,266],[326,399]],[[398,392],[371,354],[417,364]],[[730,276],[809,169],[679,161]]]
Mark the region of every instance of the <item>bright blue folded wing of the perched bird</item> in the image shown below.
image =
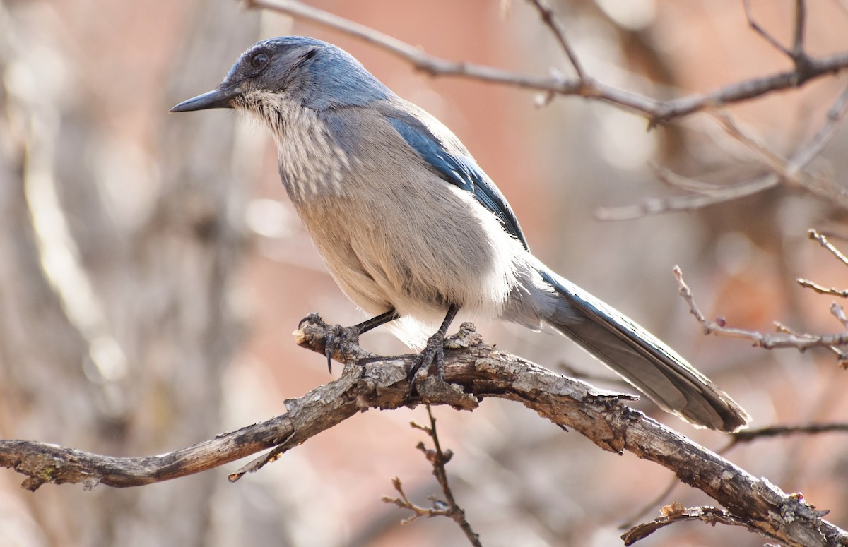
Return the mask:
[[[527,240],[510,204],[473,157],[460,151],[450,151],[444,141],[438,139],[426,125],[412,116],[404,115],[401,118],[389,115],[388,121],[442,179],[471,192],[477,202],[497,215],[504,229],[520,240],[527,249]]]

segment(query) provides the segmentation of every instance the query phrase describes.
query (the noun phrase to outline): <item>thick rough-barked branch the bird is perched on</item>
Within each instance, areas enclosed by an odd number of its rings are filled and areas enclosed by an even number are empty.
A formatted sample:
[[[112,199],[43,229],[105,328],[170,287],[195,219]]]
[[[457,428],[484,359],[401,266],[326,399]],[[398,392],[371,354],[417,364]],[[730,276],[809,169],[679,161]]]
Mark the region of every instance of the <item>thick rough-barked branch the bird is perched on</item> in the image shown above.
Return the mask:
[[[327,329],[307,324],[298,345],[323,353]],[[823,521],[801,496],[786,495],[767,479],[757,479],[732,462],[696,445],[625,403],[632,399],[597,390],[495,351],[465,323],[445,347],[445,379],[427,378],[419,397],[407,399],[406,370],[414,356],[373,355],[354,344],[338,347],[346,356],[341,378],[286,401],[287,412],[264,423],[221,434],[189,448],[160,456],[98,456],[57,445],[0,441],[0,465],[28,476],[24,487],[44,483],[98,483],[136,486],[220,466],[282,442],[286,450],[370,408],[391,409],[419,403],[471,410],[486,397],[522,405],[564,428],[573,428],[603,450],[627,450],[676,473],[683,483],[702,490],[749,528],[788,545],[828,545],[848,541],[848,533]],[[282,454],[282,452],[281,452]]]

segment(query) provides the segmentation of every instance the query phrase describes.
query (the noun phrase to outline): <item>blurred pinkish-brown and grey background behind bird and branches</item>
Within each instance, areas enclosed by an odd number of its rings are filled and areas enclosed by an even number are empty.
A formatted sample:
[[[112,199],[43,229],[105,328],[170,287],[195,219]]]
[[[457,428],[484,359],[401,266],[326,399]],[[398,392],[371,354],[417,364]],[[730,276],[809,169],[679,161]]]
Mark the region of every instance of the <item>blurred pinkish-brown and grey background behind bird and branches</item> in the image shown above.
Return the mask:
[[[519,0],[324,0],[315,7],[442,58],[546,75],[569,65],[537,12]],[[789,44],[793,3],[751,3]],[[739,0],[558,0],[589,75],[655,97],[709,91],[790,69],[750,30]],[[845,3],[810,3],[807,49],[848,49]],[[710,318],[768,331],[841,329],[831,296],[796,277],[845,287],[845,268],[806,230],[848,249],[845,209],[780,185],[689,213],[601,222],[600,207],[679,195],[651,164],[733,185],[762,158],[706,114],[646,131],[608,104],[416,73],[377,47],[233,0],[0,1],[0,437],[113,456],[191,445],[284,412],[283,401],[331,379],[291,332],[308,312],[352,324],[360,313],[325,272],[287,202],[271,139],[229,111],[169,114],[217,85],[260,38],[332,41],[460,137],[515,209],[534,253],[666,340],[771,424],[845,421],[848,378],[825,351],[764,351],[705,337],[679,298],[679,264]],[[729,108],[737,123],[791,156],[819,130],[844,75]],[[844,186],[848,130],[809,171]],[[479,323],[488,342],[557,369],[566,363],[628,390],[567,340]],[[380,329],[362,344],[406,352]],[[338,367],[335,374],[338,374]],[[600,377],[600,378],[596,378]],[[672,428],[698,431],[639,402]],[[455,496],[485,545],[621,544],[619,527],[672,482],[672,472],[603,452],[533,412],[484,401],[434,409]],[[424,408],[366,412],[236,484],[240,463],[137,489],[20,489],[0,470],[0,544],[461,545],[449,519],[383,504],[401,478],[413,500],[439,495],[410,420]],[[727,455],[753,475],[801,491],[848,526],[848,439],[761,440]],[[680,485],[663,503],[711,505]],[[648,517],[656,516],[658,506]],[[678,524],[640,544],[761,545],[742,528]]]

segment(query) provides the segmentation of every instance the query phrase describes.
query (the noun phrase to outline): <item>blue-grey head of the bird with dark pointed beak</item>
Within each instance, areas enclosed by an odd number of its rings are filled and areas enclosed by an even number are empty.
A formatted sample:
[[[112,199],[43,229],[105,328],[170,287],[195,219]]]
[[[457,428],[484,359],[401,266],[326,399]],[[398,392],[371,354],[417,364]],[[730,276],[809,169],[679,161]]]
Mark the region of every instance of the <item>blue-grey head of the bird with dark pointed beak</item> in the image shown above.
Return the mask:
[[[224,81],[171,112],[205,108],[265,110],[281,99],[326,110],[361,106],[392,95],[348,52],[326,41],[282,36],[259,41],[243,52]]]

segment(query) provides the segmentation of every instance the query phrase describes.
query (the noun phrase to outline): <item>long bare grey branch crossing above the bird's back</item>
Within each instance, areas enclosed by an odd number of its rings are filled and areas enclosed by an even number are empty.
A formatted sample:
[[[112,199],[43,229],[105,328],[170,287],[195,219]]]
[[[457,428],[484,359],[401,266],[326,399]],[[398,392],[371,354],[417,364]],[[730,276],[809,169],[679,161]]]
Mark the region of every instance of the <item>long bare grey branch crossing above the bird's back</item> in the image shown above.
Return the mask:
[[[458,76],[493,82],[504,86],[545,91],[555,95],[578,96],[593,101],[609,102],[619,108],[642,114],[649,120],[650,127],[671,119],[687,116],[691,113],[719,108],[734,102],[750,101],[773,91],[800,87],[808,80],[824,75],[833,75],[848,68],[848,52],[839,52],[821,58],[811,58],[803,51],[797,52],[797,55],[794,52],[794,58],[803,58],[804,62],[796,62],[795,69],[793,70],[742,80],[704,94],[691,94],[661,101],[633,93],[632,91],[607,86],[586,74],[581,75],[583,72],[581,64],[579,64],[576,54],[572,52],[571,48],[567,45],[567,41],[564,39],[560,41],[560,44],[566,50],[566,54],[568,54],[572,65],[577,71],[577,78],[563,78],[561,75],[548,77],[524,75],[482,64],[449,61],[438,58],[428,55],[421,51],[419,47],[414,47],[393,36],[388,36],[365,25],[354,23],[349,19],[344,19],[321,9],[312,8],[302,2],[298,2],[298,0],[244,0],[244,5],[248,8],[269,9],[282,14],[289,14],[318,25],[340,30],[377,47],[382,47],[382,49],[404,59],[416,69],[426,72],[429,75]],[[549,16],[552,18],[550,10],[544,8],[544,4],[535,1],[533,1],[533,5],[540,10],[543,20],[546,25],[549,25],[554,30],[555,36],[558,39],[561,38],[563,35],[561,34],[561,30],[559,30],[559,25],[554,26],[553,23],[549,22],[549,20],[553,19],[547,19]]]

